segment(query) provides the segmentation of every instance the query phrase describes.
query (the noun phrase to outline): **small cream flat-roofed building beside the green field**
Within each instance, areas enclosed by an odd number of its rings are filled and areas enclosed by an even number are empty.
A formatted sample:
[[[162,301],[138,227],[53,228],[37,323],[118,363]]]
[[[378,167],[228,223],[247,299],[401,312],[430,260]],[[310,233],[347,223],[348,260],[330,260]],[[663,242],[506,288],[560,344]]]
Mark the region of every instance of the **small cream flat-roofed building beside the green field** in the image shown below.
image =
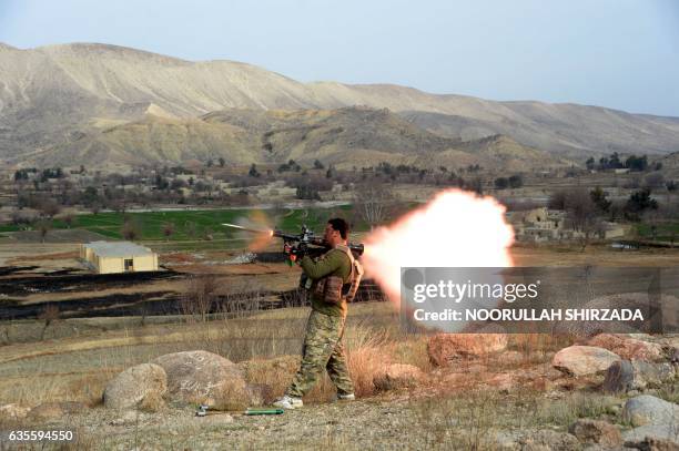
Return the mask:
[[[83,244],[80,258],[98,274],[158,270],[158,254],[130,242]]]

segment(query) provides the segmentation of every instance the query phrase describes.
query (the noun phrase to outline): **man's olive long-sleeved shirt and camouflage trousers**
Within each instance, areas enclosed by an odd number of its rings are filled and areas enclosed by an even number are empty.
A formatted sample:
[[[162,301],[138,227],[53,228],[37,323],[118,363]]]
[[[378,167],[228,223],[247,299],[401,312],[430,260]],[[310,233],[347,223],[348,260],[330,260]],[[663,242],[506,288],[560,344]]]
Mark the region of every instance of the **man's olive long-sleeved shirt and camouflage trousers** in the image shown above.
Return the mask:
[[[349,281],[351,260],[340,249],[332,249],[317,260],[304,257],[300,264],[313,284],[327,276],[338,276],[345,283]],[[346,300],[328,304],[312,295],[311,301],[312,312],[306,322],[302,365],[286,394],[302,398],[312,389],[324,368],[337,388],[337,393],[353,393],[354,385],[348,373],[343,342]]]

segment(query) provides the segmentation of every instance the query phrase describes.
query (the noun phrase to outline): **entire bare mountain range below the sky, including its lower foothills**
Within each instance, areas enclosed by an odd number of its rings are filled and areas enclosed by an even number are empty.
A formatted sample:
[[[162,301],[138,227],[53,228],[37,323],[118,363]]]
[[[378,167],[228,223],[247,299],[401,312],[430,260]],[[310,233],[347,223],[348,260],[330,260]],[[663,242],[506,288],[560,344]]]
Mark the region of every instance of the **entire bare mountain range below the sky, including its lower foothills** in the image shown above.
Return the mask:
[[[575,104],[493,102],[387,84],[305,84],[251,64],[192,62],[115,45],[19,50],[2,44],[0,73],[0,158],[12,164],[69,161],[72,155],[102,165],[130,164],[139,158],[140,147],[146,150],[144,160],[158,162],[215,153],[230,161],[255,162],[284,155],[311,158],[307,152],[331,157],[355,153],[352,148],[377,152],[366,154],[367,161],[394,152],[416,160],[454,142],[495,135],[555,154],[557,160],[578,162],[585,155],[612,151],[666,154],[679,150],[676,117]],[[411,125],[388,124],[378,113],[343,110],[355,105],[388,109]],[[223,111],[229,109],[231,119],[225,120]],[[302,110],[312,112],[304,115]],[[259,144],[243,140],[260,130],[256,121],[263,121],[267,111],[296,111],[297,120],[285,121],[317,129],[305,135],[310,142],[303,144],[295,137],[297,132],[276,131],[270,136],[276,152],[259,153]],[[359,133],[355,139],[342,133],[331,139],[321,119],[327,111],[343,111],[333,119],[337,123],[366,117],[377,122],[354,127]],[[355,117],[349,120],[351,115]],[[275,123],[272,117],[266,116],[266,126]],[[236,129],[216,126],[215,121]],[[389,116],[389,121],[396,119]],[[391,131],[403,132],[407,139],[402,144],[412,145],[393,147],[403,136],[392,136]]]

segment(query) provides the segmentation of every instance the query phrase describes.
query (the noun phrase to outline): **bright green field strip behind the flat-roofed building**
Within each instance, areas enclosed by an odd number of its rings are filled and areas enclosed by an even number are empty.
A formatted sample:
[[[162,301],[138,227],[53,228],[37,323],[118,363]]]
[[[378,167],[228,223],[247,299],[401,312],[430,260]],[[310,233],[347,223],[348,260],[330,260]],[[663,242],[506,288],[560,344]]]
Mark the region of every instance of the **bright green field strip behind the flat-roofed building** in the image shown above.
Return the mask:
[[[237,232],[222,226],[222,223],[239,223],[243,218],[251,218],[253,225],[275,225],[284,232],[297,232],[302,224],[306,224],[317,233],[322,232],[323,225],[333,215],[351,216],[352,206],[335,208],[304,208],[285,209],[272,214],[266,211],[252,209],[205,209],[205,211],[178,211],[178,212],[144,212],[144,213],[99,213],[84,214],[73,217],[70,226],[61,221],[51,222],[51,229],[81,228],[98,233],[111,239],[123,239],[122,230],[125,222],[133,225],[138,230],[136,239],[144,242],[195,242],[205,239],[211,235],[212,240],[237,238]],[[262,218],[264,221],[262,221]],[[163,229],[166,224],[172,225],[172,234],[165,236]],[[22,228],[23,227],[23,228]],[[37,226],[32,228],[36,229]],[[365,224],[356,224],[356,232],[365,230]],[[0,225],[2,232],[18,232],[26,226]],[[192,248],[195,245],[191,245]]]

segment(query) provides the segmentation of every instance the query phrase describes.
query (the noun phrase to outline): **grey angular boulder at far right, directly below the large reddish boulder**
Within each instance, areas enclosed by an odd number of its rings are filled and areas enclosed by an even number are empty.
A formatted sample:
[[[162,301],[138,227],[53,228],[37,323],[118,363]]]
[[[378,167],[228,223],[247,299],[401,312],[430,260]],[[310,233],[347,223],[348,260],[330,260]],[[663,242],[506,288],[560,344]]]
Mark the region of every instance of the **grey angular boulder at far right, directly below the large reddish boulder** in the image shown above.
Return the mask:
[[[606,372],[602,389],[609,393],[625,393],[643,390],[675,379],[675,368],[670,363],[648,363],[640,360],[614,362]]]

